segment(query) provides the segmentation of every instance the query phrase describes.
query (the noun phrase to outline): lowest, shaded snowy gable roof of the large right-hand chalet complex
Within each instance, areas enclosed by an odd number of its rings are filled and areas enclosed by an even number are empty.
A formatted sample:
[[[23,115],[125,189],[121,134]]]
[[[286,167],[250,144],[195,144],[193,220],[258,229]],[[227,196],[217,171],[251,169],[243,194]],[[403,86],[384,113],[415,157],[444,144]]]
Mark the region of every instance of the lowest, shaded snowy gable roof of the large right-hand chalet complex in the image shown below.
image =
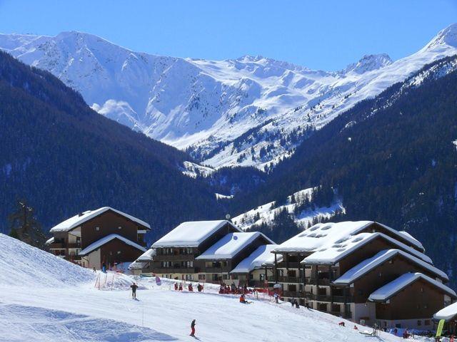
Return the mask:
[[[448,286],[436,281],[435,279],[431,279],[429,276],[421,273],[406,273],[402,276],[399,276],[397,279],[391,281],[390,283],[380,287],[376,291],[374,291],[369,297],[369,301],[387,301],[392,296],[401,291],[409,284],[412,284],[414,281],[418,279],[423,279],[427,281],[429,284],[436,286],[437,288],[443,290],[449,296],[456,298],[456,292],[453,289],[448,288]]]

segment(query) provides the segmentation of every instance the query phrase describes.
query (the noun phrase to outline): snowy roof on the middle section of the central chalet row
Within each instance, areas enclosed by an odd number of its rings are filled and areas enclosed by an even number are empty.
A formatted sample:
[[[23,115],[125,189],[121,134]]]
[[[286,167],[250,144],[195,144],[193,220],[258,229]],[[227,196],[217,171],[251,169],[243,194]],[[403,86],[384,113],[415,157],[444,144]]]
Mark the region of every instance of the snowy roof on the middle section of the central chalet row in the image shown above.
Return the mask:
[[[268,239],[268,237],[261,232],[229,233],[209,247],[209,249],[206,249],[206,251],[200,254],[199,257],[196,257],[196,259],[231,259],[248,247],[248,245],[258,237],[263,237],[266,242],[274,244],[271,239]]]

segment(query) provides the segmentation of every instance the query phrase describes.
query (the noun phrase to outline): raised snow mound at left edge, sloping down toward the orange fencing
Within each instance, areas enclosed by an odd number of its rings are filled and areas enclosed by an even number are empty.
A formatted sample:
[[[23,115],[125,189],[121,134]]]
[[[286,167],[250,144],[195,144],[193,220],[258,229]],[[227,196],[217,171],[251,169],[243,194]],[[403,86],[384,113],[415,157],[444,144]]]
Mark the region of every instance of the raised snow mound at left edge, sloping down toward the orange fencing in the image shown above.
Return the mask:
[[[0,234],[0,286],[59,287],[93,280],[88,269]]]

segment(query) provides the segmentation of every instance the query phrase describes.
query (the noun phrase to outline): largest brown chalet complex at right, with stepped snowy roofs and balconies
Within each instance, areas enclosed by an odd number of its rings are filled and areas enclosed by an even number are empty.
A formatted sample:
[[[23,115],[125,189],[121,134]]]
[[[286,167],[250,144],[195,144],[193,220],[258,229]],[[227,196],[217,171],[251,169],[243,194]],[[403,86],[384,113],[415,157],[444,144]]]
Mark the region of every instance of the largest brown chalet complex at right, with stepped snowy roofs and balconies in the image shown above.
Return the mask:
[[[443,285],[448,276],[423,252],[422,244],[410,234],[369,221],[316,224],[273,249],[276,281],[285,300],[296,298],[312,309],[357,322],[386,327],[408,323],[409,328],[430,326],[431,316],[423,318],[429,310],[416,316],[406,313],[408,320],[399,318],[405,316],[400,311],[400,316],[381,315],[378,309],[389,311],[393,306],[382,306],[370,296],[403,274],[422,274],[418,281],[433,282],[421,289],[434,296],[433,303],[418,305],[436,308],[452,301],[455,294]],[[397,301],[403,298],[400,293],[395,296]]]

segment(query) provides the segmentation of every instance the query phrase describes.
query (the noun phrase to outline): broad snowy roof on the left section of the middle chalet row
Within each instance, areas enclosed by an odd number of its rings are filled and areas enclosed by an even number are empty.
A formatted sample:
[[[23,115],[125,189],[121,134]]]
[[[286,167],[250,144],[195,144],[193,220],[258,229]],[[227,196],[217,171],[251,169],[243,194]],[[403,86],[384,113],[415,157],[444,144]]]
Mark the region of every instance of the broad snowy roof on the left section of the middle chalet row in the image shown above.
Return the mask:
[[[219,221],[191,221],[183,222],[164,237],[152,244],[152,247],[199,247],[199,245],[221,227],[229,224],[233,229],[241,232],[241,229],[226,220]]]

